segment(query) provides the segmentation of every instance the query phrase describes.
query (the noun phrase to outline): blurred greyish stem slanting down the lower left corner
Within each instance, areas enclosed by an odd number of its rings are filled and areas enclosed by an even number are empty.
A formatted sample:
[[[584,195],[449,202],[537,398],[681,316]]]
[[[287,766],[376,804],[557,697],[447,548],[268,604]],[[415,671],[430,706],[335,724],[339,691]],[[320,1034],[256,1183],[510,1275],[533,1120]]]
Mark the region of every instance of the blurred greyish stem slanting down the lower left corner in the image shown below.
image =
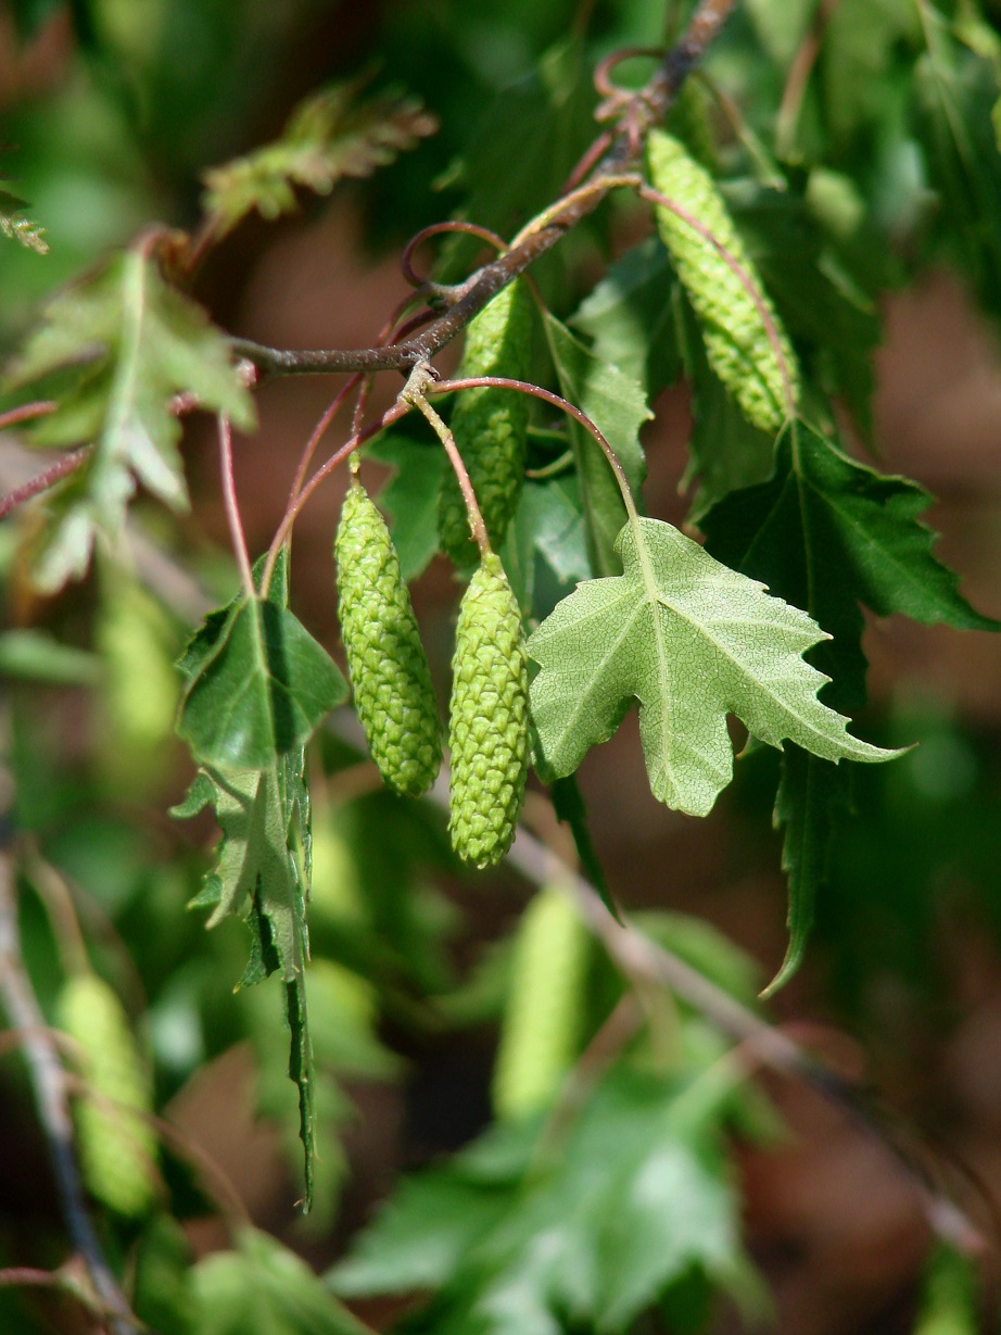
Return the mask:
[[[128,1303],[104,1259],[84,1206],[69,1117],[67,1075],[21,960],[13,869],[7,853],[0,853],[0,995],[12,1024],[24,1035],[24,1055],[35,1101],[72,1244],[84,1260],[95,1292],[113,1314],[109,1320],[113,1335],[137,1335]]]

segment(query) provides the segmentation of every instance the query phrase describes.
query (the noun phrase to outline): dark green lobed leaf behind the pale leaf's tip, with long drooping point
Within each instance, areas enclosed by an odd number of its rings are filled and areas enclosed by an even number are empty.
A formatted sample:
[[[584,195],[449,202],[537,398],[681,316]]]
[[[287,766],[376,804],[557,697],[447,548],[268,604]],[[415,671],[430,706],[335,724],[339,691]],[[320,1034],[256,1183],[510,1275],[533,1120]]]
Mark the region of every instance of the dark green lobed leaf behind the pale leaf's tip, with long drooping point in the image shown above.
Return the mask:
[[[801,602],[833,633],[814,657],[834,677],[827,698],[854,709],[865,700],[860,602],[877,615],[904,613],[925,625],[998,629],[933,555],[937,535],[918,521],[930,501],[914,482],[885,477],[797,423],[779,441],[773,477],[733,493],[699,523],[714,555]],[[775,824],[786,832],[790,941],[769,991],[802,959],[846,789],[848,778],[830,766],[794,748],[786,753]]]

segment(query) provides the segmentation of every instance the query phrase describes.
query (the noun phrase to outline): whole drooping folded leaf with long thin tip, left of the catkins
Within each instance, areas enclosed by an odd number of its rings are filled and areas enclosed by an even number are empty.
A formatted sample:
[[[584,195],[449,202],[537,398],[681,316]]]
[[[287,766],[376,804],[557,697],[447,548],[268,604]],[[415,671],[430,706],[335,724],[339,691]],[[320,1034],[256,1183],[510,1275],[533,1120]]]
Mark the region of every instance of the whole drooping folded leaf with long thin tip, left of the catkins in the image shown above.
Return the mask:
[[[262,570],[263,558],[255,567],[258,581]],[[208,926],[228,913],[246,918],[251,953],[239,985],[274,972],[282,976],[308,1211],[315,1107],[304,980],[312,864],[304,744],[327,710],[346,698],[347,688],[287,602],[288,562],[282,555],[266,599],[238,597],[228,609],[211,613],[184,650],[179,669],[187,685],[178,732],[188,737],[206,768],[172,814],[195,816],[208,804],[215,810],[223,837],[196,902],[212,908]],[[234,639],[234,625],[247,611],[256,618],[254,623],[271,627],[255,638],[251,623],[250,645],[246,637]],[[242,658],[250,658],[244,672]],[[219,710],[215,721],[214,709]]]

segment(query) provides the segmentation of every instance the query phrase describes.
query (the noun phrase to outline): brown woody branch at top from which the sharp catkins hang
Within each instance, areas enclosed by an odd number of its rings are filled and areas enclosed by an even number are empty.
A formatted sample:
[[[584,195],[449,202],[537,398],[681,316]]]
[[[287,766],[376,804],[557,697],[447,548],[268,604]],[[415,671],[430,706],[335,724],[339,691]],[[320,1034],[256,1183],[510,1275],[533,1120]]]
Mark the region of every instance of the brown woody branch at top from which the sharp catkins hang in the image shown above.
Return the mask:
[[[718,36],[737,0],[702,0],[687,31],[662,60],[650,83],[627,104],[621,128],[590,176],[615,176],[634,166],[642,135],[659,120],[682,83]],[[462,284],[454,306],[427,326],[416,338],[391,347],[295,351],[266,347],[247,339],[232,339],[238,356],[248,358],[264,375],[332,374],[336,371],[411,371],[430,362],[450,343],[496,294],[530,268],[542,255],[594,212],[611,190],[575,190],[546,210],[549,220],[538,231],[523,232],[519,243],[505,255],[478,270]]]

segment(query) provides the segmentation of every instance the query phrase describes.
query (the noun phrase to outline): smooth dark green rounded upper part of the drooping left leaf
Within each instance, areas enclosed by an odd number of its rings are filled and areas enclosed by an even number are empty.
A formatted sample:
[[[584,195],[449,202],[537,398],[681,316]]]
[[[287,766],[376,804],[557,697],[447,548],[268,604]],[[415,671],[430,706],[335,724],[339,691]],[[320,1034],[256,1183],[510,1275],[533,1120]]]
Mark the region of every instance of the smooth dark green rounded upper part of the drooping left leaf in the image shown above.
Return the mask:
[[[214,613],[180,663],[188,684],[178,734],[208,765],[266,769],[300,749],[347,700],[330,654],[287,607],[240,598]]]

